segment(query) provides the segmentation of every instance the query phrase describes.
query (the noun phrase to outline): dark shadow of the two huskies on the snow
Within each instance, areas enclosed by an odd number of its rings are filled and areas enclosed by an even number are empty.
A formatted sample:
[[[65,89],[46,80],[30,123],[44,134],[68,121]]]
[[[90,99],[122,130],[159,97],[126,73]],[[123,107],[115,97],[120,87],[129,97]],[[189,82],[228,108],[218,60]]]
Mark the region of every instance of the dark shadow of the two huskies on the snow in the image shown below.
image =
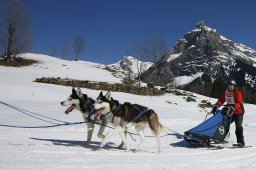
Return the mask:
[[[51,142],[53,145],[58,145],[58,146],[84,147],[84,148],[91,149],[92,151],[102,149],[100,147],[101,142],[96,142],[96,141],[91,141],[91,143],[89,145],[86,145],[85,141],[63,140],[63,139],[43,139],[43,138],[33,138],[33,137],[31,137],[30,139],[37,140],[37,141]],[[108,142],[103,148],[104,149],[120,149],[114,145],[115,145],[114,143]]]

